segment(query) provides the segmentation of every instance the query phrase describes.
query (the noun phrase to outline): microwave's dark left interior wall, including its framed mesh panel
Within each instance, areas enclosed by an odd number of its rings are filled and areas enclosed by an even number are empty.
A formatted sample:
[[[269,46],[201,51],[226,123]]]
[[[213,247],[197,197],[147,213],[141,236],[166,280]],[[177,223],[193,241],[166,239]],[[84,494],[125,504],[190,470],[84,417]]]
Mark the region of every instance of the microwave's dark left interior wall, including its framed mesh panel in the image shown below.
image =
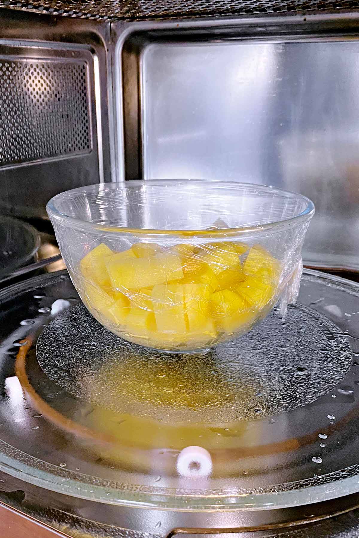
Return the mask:
[[[0,12],[0,211],[110,180],[109,23]]]

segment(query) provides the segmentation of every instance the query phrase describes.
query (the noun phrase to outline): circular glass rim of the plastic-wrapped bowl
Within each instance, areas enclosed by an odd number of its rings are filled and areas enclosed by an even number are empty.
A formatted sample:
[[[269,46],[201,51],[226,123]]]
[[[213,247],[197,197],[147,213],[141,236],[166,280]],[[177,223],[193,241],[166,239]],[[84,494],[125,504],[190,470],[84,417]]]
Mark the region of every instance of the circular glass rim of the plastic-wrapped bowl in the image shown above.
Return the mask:
[[[61,213],[56,207],[55,203],[64,198],[64,196],[78,196],[81,194],[86,194],[88,192],[99,189],[101,186],[123,186],[125,188],[135,187],[135,186],[145,186],[150,183],[161,184],[161,183],[173,183],[177,185],[183,185],[184,183],[192,183],[193,185],[198,183],[217,183],[219,185],[233,186],[233,187],[255,187],[263,193],[277,193],[278,195],[285,195],[288,199],[298,199],[306,203],[306,207],[298,215],[293,217],[281,220],[273,221],[260,225],[252,226],[237,226],[236,228],[221,228],[221,229],[186,229],[186,230],[165,230],[165,229],[152,229],[152,228],[126,228],[125,226],[115,226],[111,224],[103,224],[97,222],[84,221],[77,217],[71,217],[64,213]],[[297,225],[300,221],[309,221],[315,213],[314,203],[307,197],[299,193],[292,192],[290,190],[281,189],[280,187],[274,187],[272,185],[261,185],[257,183],[250,182],[241,182],[241,181],[224,181],[224,180],[206,180],[206,179],[151,179],[151,180],[129,180],[129,181],[112,181],[108,183],[94,183],[92,185],[87,185],[85,187],[78,187],[75,189],[67,190],[65,192],[59,193],[53,196],[46,205],[46,211],[50,219],[54,218],[60,221],[62,224],[67,225],[71,228],[76,228],[85,231],[101,231],[102,233],[129,233],[131,235],[175,235],[175,236],[223,236],[226,233],[226,236],[230,235],[242,235],[247,233],[252,233],[255,231],[266,231],[276,228],[278,231],[288,226]]]

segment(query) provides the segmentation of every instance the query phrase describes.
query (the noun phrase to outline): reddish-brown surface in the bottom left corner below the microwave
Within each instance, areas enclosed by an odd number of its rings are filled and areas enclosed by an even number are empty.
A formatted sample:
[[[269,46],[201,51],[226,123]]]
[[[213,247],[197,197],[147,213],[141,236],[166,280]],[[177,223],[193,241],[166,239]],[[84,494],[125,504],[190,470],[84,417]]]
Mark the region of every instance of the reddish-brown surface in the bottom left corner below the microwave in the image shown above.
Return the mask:
[[[18,512],[0,502],[1,538],[68,538],[40,521]]]

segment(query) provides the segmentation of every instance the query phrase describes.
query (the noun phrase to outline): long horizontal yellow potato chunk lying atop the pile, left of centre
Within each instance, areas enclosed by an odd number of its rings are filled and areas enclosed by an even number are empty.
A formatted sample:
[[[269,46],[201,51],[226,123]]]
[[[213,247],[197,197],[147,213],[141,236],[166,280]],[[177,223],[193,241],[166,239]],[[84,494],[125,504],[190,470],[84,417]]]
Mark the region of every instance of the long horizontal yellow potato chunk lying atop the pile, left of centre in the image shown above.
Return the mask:
[[[134,256],[134,255],[133,255]],[[151,258],[109,258],[107,268],[112,287],[140,289],[180,280],[184,274],[181,259],[176,254],[161,252]]]

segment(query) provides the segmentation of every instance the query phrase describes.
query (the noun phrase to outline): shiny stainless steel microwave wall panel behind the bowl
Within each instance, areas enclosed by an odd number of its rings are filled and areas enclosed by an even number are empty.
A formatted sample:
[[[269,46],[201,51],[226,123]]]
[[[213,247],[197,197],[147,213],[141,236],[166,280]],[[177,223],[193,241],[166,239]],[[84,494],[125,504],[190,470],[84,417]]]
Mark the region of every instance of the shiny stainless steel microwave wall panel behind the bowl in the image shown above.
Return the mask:
[[[300,192],[316,204],[306,264],[357,270],[354,26],[346,34],[342,20],[341,33],[334,26],[309,33],[301,21],[299,31],[283,24],[256,37],[253,20],[252,29],[227,21],[230,33],[221,20],[134,23],[132,32],[117,24],[125,178],[233,180]],[[118,162],[121,171],[121,154]]]

